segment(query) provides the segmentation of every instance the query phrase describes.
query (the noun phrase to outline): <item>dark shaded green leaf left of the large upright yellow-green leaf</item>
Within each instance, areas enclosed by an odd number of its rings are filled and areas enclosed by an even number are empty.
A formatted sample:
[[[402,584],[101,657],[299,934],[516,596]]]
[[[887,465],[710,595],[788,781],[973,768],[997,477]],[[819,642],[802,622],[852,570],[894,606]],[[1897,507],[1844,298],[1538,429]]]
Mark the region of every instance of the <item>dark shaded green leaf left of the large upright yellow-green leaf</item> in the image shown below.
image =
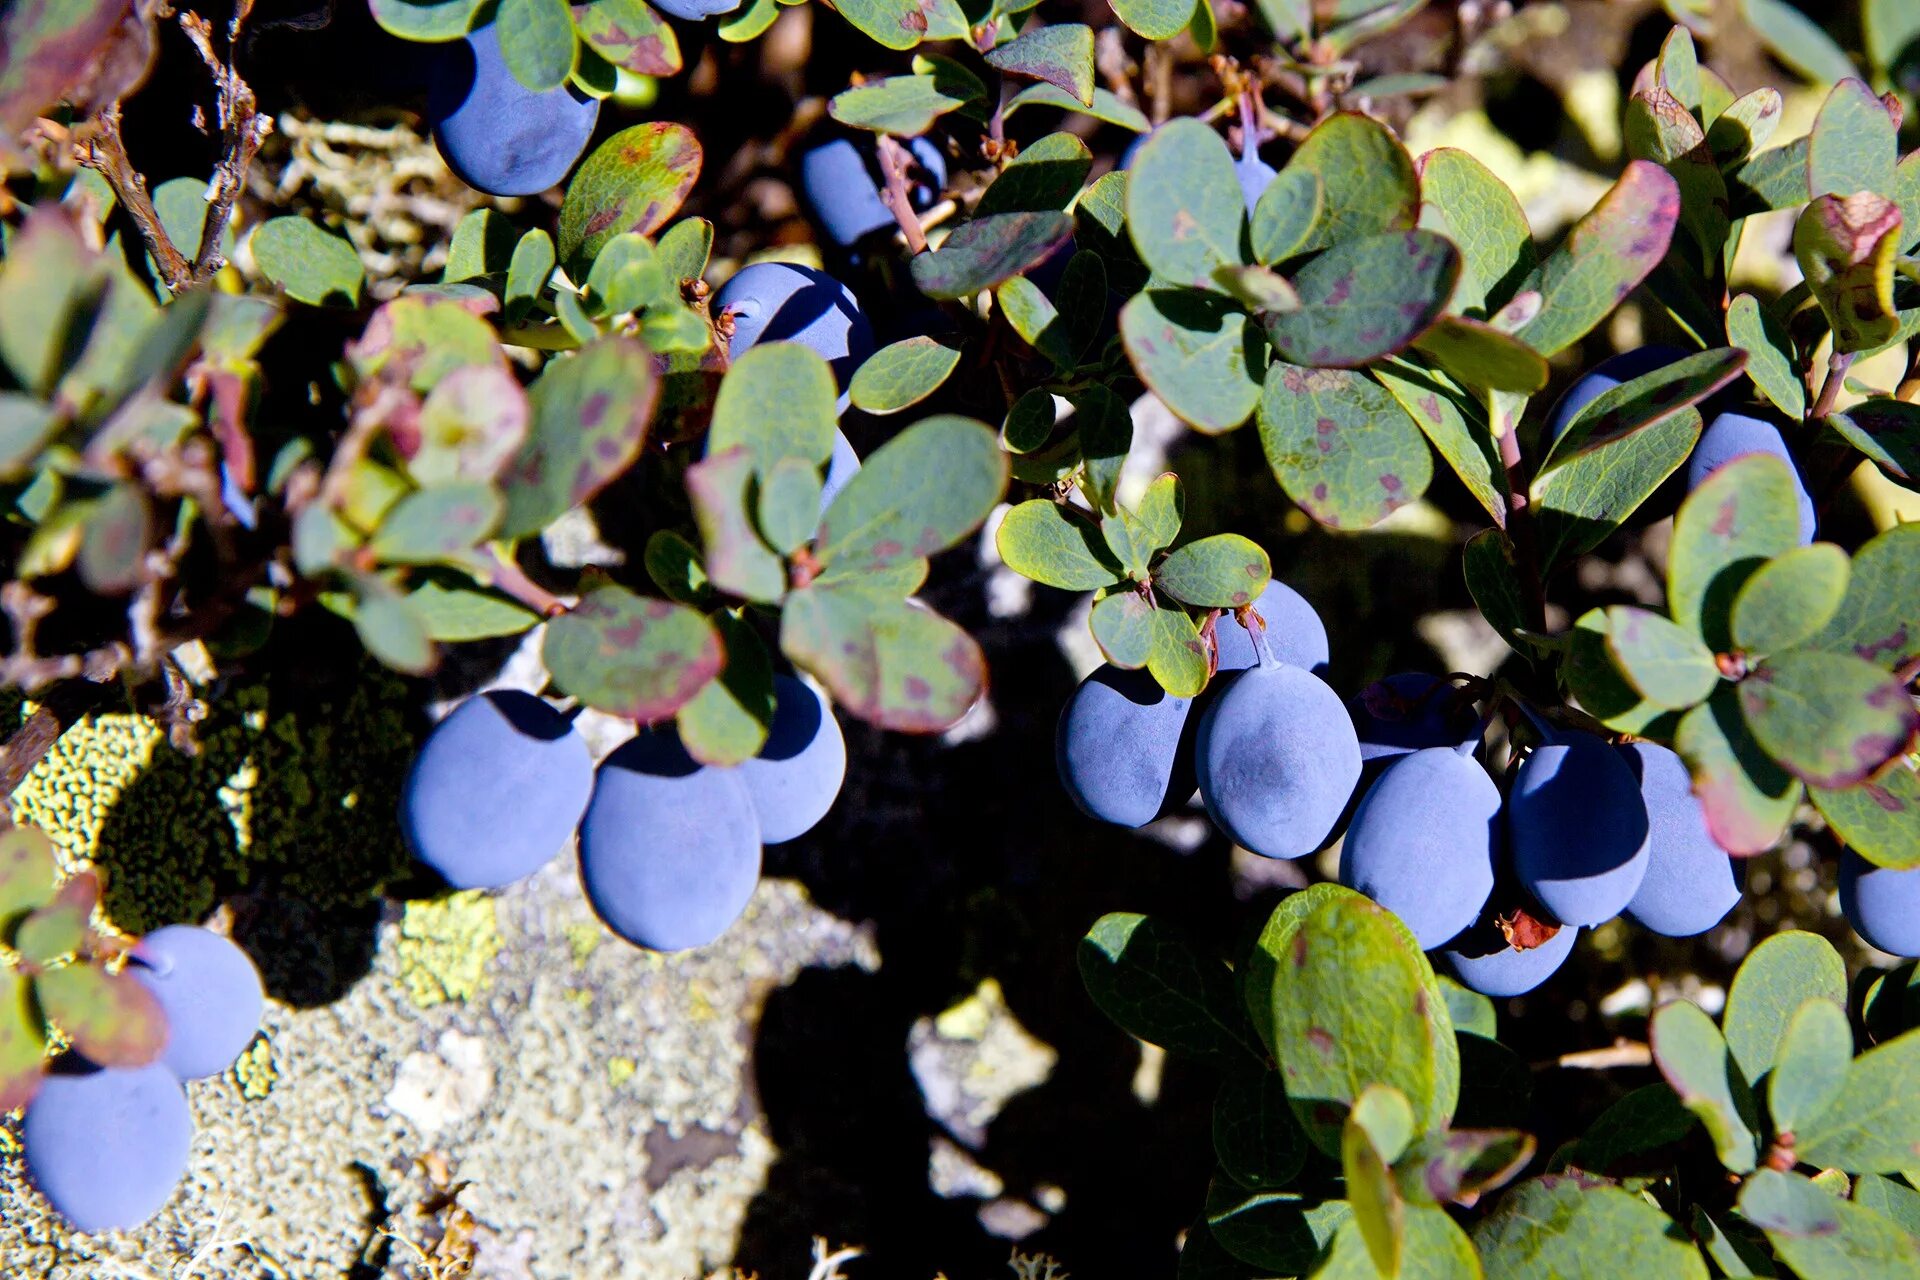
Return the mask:
[[[1094,921],[1079,942],[1079,971],[1092,1002],[1131,1036],[1190,1057],[1252,1054],[1233,971],[1152,915]]]

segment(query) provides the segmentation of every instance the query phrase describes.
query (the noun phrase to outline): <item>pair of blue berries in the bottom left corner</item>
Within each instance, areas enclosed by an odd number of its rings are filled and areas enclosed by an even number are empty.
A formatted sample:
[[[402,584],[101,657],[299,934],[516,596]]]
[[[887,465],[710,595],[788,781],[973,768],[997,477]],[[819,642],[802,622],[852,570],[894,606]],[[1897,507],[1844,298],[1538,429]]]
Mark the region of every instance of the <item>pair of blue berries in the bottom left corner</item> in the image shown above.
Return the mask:
[[[159,1211],[186,1174],[194,1119],[182,1080],[232,1067],[259,1031],[259,973],[228,938],[194,925],[146,935],[127,973],[167,1019],[146,1067],[56,1061],[21,1121],[27,1174],[75,1230],[127,1230]]]

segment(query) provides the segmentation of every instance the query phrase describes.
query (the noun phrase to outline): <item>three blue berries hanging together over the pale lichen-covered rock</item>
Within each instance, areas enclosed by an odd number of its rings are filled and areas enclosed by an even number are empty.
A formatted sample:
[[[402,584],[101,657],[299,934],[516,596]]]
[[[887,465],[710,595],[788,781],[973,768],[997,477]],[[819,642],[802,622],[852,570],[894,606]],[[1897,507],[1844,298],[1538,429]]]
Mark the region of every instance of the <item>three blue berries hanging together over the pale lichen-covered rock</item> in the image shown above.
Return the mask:
[[[712,942],[753,896],[760,846],[810,831],[839,796],[847,743],[826,699],[774,677],[760,754],[697,762],[672,723],[641,729],[599,770],[572,720],[530,693],[461,702],[420,745],[399,819],[415,856],[455,889],[501,889],[576,833],[580,883],[628,942]]]

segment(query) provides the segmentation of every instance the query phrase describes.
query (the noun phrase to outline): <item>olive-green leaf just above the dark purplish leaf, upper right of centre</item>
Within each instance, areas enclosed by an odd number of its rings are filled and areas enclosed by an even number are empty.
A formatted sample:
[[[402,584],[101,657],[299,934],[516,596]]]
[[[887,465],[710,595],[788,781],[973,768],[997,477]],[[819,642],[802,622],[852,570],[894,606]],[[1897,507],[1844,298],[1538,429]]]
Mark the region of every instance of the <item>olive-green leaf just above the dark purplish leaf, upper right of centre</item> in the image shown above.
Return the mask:
[[[1405,232],[1419,223],[1421,184],[1413,159],[1400,138],[1371,115],[1334,111],[1300,142],[1286,167],[1321,180],[1321,217],[1302,251]],[[1139,169],[1135,161],[1135,175]],[[1144,180],[1137,177],[1137,182]]]

